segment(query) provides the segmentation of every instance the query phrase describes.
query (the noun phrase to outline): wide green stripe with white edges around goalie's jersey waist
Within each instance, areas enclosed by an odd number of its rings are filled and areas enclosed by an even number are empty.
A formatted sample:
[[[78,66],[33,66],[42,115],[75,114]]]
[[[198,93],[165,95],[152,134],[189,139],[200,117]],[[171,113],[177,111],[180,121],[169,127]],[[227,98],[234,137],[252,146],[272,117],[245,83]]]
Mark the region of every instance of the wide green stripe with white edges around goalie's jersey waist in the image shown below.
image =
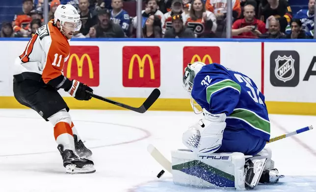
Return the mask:
[[[258,116],[255,112],[247,109],[234,109],[234,112],[227,119],[238,119],[246,122],[254,129],[263,131],[270,135],[270,122]]]

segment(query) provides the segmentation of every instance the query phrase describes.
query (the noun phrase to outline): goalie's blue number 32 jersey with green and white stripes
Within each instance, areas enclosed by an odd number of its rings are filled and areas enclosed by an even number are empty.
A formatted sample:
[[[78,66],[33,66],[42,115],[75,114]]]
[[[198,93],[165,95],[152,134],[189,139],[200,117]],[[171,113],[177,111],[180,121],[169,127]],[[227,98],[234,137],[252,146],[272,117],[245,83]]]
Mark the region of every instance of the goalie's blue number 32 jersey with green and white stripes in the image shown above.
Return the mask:
[[[225,129],[247,130],[269,141],[264,96],[248,76],[219,64],[203,66],[194,78],[191,96],[211,114],[225,113]]]

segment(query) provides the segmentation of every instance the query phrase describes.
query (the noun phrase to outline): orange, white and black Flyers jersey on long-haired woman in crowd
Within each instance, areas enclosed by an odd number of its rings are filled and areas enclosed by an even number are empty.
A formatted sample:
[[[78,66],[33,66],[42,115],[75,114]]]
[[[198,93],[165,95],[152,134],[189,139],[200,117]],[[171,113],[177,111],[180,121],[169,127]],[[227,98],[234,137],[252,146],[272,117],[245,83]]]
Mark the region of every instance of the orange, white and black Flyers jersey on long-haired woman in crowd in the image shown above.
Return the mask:
[[[185,26],[192,29],[195,34],[199,35],[203,33],[204,23],[205,23],[203,19],[192,20],[189,14],[185,14],[185,16],[186,16],[186,18],[184,19],[186,21]],[[213,22],[213,26],[211,30],[215,32],[217,28],[217,24],[216,24],[216,17],[214,13],[210,11],[206,11],[206,16],[207,16],[207,20],[211,20]]]

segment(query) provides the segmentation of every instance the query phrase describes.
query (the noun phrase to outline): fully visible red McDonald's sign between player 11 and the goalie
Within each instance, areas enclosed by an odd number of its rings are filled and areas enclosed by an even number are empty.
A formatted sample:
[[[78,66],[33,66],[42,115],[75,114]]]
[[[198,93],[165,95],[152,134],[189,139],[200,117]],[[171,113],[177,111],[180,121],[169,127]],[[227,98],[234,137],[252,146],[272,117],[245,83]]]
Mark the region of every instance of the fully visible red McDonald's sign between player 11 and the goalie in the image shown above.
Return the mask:
[[[123,48],[123,86],[160,86],[159,47],[126,46]]]

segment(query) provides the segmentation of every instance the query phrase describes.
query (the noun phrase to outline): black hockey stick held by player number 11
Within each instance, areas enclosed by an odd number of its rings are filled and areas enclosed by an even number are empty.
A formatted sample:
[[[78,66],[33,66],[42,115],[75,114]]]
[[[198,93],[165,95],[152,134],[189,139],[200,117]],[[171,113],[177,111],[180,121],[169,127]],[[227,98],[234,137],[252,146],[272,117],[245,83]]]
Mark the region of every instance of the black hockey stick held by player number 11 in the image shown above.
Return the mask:
[[[117,101],[105,98],[103,96],[95,95],[95,94],[93,94],[93,93],[91,93],[89,91],[86,91],[86,92],[89,93],[90,96],[92,96],[94,98],[103,100],[105,102],[108,102],[108,103],[111,103],[111,104],[123,107],[125,109],[129,109],[129,110],[132,110],[132,111],[135,111],[135,112],[138,112],[138,113],[145,113],[154,104],[154,102],[158,99],[158,97],[160,96],[160,91],[159,91],[159,89],[156,88],[150,94],[150,96],[147,97],[145,102],[140,107],[132,107],[130,105],[126,105],[126,104],[123,104],[123,103],[120,103],[120,102],[117,102]]]

